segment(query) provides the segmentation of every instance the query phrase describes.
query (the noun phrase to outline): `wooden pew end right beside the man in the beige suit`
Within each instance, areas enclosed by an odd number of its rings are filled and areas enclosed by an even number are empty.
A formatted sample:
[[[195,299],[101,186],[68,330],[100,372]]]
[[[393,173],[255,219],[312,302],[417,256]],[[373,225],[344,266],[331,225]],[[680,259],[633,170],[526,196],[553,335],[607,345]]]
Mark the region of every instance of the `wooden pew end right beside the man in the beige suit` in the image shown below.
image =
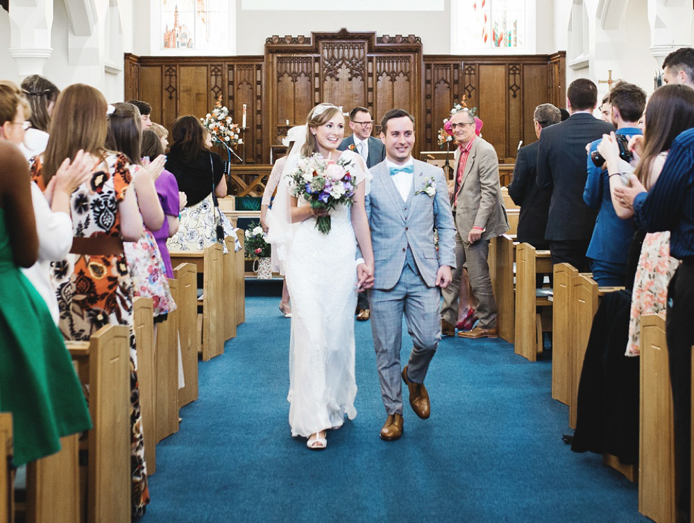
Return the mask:
[[[514,263],[516,261],[516,244],[514,237],[502,234],[489,243],[492,252],[489,273],[491,285],[496,298],[498,316],[496,325],[500,338],[514,343],[516,303],[514,294]]]

